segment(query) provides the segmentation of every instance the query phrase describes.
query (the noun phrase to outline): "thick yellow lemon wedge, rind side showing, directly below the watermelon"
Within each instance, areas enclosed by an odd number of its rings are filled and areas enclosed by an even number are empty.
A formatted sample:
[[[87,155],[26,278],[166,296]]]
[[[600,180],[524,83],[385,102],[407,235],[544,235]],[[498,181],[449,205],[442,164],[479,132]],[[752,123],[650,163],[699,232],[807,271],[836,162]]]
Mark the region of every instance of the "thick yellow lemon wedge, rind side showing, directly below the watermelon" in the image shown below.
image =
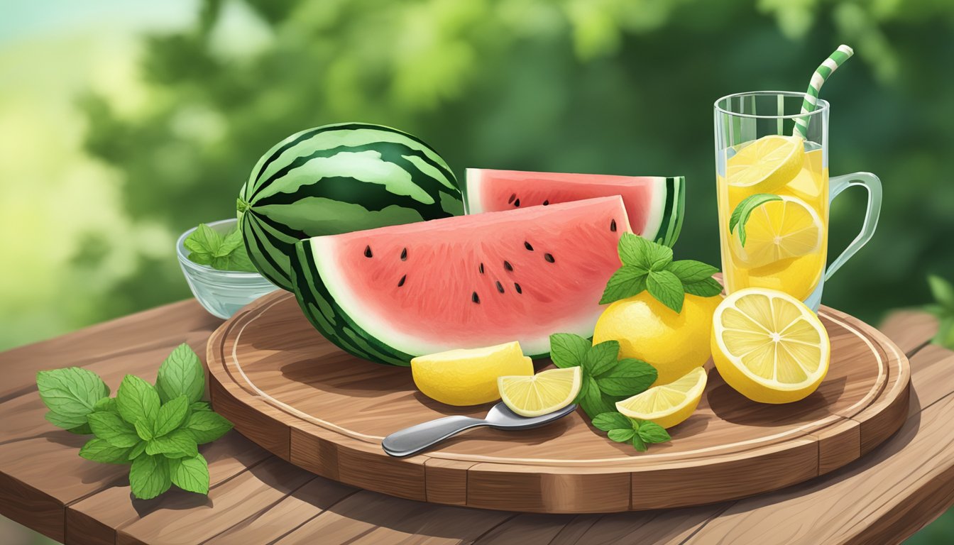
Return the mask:
[[[533,362],[513,342],[418,356],[411,360],[411,374],[431,399],[447,405],[479,405],[500,399],[498,377],[532,375]]]

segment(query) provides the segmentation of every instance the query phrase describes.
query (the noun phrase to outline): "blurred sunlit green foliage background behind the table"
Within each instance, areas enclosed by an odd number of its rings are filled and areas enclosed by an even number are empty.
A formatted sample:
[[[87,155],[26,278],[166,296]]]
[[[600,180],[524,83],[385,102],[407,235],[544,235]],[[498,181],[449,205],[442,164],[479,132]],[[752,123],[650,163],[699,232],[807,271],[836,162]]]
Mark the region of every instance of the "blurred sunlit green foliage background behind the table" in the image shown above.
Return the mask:
[[[825,303],[877,324],[954,279],[949,0],[4,0],[0,349],[188,297],[176,236],[332,122],[421,136],[459,178],[685,175],[676,258],[717,264],[713,102],[803,91],[840,43],[831,172],[878,174],[884,204]],[[833,206],[833,251],[862,199]],[[909,543],[952,541],[946,514]]]

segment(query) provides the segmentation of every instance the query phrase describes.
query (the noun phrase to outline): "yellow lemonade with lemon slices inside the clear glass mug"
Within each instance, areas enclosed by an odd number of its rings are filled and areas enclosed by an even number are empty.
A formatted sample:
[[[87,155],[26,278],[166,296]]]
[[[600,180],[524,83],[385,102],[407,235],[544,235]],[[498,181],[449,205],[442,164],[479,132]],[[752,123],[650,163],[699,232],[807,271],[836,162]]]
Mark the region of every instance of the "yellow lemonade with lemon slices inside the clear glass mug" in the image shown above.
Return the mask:
[[[735,146],[717,173],[722,270],[728,293],[784,291],[804,301],[821,281],[828,241],[828,168],[821,147],[797,136],[764,136]],[[772,195],[730,232],[744,199]],[[744,207],[743,207],[744,208]]]

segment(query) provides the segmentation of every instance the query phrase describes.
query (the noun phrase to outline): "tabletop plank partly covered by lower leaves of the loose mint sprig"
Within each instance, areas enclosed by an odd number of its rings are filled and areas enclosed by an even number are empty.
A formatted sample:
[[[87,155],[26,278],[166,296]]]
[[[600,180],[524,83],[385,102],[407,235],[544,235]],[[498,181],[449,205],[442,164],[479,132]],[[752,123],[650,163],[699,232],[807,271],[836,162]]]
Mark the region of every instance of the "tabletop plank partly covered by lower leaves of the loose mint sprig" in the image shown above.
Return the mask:
[[[248,468],[272,457],[236,431],[230,431],[214,443],[199,448],[209,463],[209,486],[219,484]],[[128,467],[123,467],[127,472]],[[115,543],[116,529],[141,516],[162,509],[171,509],[185,502],[196,502],[197,494],[182,491],[165,493],[152,500],[134,499],[129,482],[121,480],[117,486],[81,499],[66,510],[66,542],[80,544]],[[205,498],[201,498],[204,502]]]

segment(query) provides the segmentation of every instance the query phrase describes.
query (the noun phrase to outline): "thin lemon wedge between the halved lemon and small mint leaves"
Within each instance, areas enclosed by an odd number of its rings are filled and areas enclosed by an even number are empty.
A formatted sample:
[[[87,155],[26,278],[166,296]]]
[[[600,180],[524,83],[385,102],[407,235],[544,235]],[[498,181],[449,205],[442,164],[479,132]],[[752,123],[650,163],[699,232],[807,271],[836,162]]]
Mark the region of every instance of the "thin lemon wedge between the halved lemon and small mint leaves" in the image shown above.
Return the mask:
[[[630,418],[649,420],[672,428],[692,416],[706,388],[706,371],[695,367],[667,385],[656,386],[616,403],[616,410]]]

